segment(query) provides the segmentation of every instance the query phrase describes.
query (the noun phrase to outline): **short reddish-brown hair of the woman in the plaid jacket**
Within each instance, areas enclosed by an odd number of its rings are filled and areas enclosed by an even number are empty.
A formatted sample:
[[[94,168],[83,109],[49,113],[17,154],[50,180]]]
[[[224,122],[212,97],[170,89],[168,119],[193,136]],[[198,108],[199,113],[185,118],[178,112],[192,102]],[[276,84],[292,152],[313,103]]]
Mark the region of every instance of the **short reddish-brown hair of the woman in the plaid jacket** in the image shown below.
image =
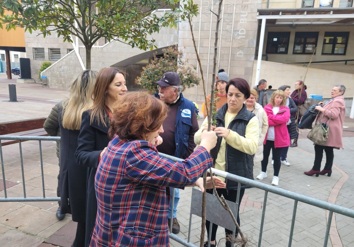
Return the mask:
[[[114,109],[108,137],[117,134],[120,139],[146,140],[148,133],[161,127],[167,112],[167,105],[147,92],[127,94]]]

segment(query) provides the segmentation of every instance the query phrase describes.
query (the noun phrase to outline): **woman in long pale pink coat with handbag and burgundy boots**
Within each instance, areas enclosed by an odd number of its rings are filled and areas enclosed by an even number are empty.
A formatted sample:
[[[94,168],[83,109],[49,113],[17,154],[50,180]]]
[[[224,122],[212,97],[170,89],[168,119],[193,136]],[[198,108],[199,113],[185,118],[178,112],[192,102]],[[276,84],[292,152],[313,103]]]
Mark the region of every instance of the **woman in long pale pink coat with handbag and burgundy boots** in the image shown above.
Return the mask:
[[[333,149],[343,148],[342,133],[344,116],[346,115],[346,105],[344,103],[343,94],[345,91],[346,87],[343,85],[334,86],[331,92],[331,100],[324,104],[324,106],[316,106],[315,108],[320,112],[317,116],[317,121],[322,119],[322,115],[323,122],[326,122],[329,118],[331,118],[331,122],[327,122],[330,126],[330,132],[328,133],[328,140],[325,146],[315,144],[315,161],[313,168],[304,172],[304,174],[308,176],[316,174],[316,177],[318,177],[319,174],[327,174],[327,176],[330,177],[332,174],[332,164],[334,158]],[[323,150],[325,150],[326,153],[326,164],[325,168],[320,171]]]

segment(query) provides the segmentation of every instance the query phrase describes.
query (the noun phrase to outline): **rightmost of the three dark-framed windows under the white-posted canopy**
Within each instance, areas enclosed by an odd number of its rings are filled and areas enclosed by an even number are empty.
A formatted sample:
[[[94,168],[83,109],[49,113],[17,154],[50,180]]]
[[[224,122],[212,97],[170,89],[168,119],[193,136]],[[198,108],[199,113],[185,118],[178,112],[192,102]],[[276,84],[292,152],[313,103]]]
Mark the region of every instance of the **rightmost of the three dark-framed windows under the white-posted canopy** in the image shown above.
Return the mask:
[[[346,55],[349,32],[325,32],[322,55]]]

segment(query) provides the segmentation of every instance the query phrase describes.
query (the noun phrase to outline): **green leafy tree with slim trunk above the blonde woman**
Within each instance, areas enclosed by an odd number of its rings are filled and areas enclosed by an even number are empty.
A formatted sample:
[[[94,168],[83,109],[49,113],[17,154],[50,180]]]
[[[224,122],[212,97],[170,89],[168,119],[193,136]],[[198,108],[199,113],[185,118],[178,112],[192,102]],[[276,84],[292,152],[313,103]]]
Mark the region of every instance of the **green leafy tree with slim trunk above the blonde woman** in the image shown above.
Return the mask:
[[[198,6],[176,8],[177,0],[3,0],[0,7],[0,28],[24,27],[38,30],[46,37],[57,33],[64,42],[78,37],[86,50],[86,69],[91,68],[91,48],[100,39],[118,41],[142,50],[156,49],[155,40],[148,35],[162,27],[176,27],[179,17],[195,15]],[[161,7],[171,11],[162,16],[154,13]],[[5,15],[5,10],[12,12]]]

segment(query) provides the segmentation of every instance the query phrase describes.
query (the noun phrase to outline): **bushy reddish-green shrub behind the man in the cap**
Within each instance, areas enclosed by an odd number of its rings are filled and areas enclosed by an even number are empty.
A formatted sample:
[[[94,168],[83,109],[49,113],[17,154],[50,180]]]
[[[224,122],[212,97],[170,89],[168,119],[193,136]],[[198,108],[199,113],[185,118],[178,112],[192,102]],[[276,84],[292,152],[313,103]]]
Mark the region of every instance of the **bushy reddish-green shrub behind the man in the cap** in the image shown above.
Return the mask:
[[[184,60],[182,50],[176,47],[162,49],[163,56],[157,57],[154,54],[149,65],[143,67],[140,77],[135,79],[135,83],[151,93],[156,92],[156,84],[165,72],[176,72],[181,78],[183,89],[199,85],[199,78],[195,72],[196,68],[188,66],[188,61]]]

